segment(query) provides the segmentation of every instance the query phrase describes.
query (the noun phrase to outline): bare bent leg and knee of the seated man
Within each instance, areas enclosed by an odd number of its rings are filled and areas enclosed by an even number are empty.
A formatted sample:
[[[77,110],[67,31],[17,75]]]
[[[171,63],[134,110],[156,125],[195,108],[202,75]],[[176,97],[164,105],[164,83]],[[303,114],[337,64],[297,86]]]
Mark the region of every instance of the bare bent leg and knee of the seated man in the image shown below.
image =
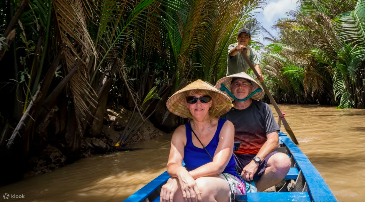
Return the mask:
[[[285,178],[291,166],[290,158],[284,153],[276,153],[272,155],[266,167],[266,170],[261,175],[260,180],[256,182],[258,191],[265,191],[274,186]]]

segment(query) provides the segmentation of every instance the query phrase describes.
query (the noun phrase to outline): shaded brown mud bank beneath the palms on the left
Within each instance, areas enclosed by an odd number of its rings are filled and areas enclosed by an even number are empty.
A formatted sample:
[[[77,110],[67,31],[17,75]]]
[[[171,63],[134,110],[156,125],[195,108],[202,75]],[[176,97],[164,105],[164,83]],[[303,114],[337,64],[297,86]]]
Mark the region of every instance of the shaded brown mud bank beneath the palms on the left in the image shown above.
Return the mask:
[[[85,137],[81,141],[81,147],[79,151],[77,151],[76,156],[68,158],[67,154],[62,152],[66,151],[66,146],[63,143],[48,144],[39,154],[28,160],[29,168],[24,174],[24,177],[51,172],[59,167],[73,163],[77,159],[86,158],[93,154],[118,152],[114,145],[118,141],[120,133],[125,129],[131,114],[131,111],[120,105],[118,105],[117,108],[107,108],[101,134],[95,137]],[[134,116],[139,115],[135,113]],[[154,125],[146,119],[145,124],[138,129],[127,146],[162,135],[165,135],[165,133],[155,128]]]

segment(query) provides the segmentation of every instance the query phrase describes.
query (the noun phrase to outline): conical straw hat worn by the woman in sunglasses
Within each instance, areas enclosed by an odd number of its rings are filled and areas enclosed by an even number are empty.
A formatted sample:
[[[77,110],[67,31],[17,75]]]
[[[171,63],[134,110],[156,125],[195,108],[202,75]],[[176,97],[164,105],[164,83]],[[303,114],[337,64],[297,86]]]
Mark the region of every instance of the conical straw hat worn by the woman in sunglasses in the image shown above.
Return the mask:
[[[185,103],[187,92],[190,90],[211,91],[211,94],[214,96],[212,96],[213,105],[209,111],[213,117],[218,117],[227,113],[232,107],[232,102],[228,96],[199,79],[185,86],[185,88],[178,90],[169,98],[166,106],[171,113],[184,118],[193,118]]]

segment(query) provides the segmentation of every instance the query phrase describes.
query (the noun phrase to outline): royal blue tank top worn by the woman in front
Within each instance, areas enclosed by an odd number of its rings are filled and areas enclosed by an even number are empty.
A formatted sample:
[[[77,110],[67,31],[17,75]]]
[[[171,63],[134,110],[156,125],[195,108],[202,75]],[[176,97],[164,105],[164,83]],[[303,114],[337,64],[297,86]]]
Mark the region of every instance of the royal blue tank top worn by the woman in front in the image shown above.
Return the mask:
[[[216,148],[218,147],[219,142],[219,133],[220,130],[223,127],[223,124],[226,122],[226,119],[219,119],[218,120],[218,127],[214,134],[213,139],[210,141],[210,143],[205,147],[209,154],[213,157]],[[212,162],[212,159],[209,157],[207,152],[204,148],[195,147],[193,144],[191,138],[192,138],[192,132],[189,128],[188,124],[191,127],[190,121],[185,124],[186,129],[186,146],[184,149],[184,163],[188,171],[192,171],[200,166],[203,166],[204,164],[207,164],[209,162]],[[231,175],[234,175],[240,179],[240,176],[237,175],[237,171],[235,169],[236,161],[234,160],[233,154],[231,156],[231,159],[229,160],[226,168],[224,168],[224,173],[228,173]]]

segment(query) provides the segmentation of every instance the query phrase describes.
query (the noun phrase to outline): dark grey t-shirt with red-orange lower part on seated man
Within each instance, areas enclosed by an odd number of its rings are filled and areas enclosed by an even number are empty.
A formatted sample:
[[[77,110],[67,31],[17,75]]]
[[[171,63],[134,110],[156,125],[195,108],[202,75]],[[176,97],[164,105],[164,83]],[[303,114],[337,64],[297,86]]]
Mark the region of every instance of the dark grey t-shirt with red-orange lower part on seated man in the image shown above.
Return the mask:
[[[221,116],[234,125],[234,141],[242,141],[238,154],[257,154],[266,142],[266,135],[280,131],[274,114],[265,102],[252,100],[246,109],[231,108]]]

